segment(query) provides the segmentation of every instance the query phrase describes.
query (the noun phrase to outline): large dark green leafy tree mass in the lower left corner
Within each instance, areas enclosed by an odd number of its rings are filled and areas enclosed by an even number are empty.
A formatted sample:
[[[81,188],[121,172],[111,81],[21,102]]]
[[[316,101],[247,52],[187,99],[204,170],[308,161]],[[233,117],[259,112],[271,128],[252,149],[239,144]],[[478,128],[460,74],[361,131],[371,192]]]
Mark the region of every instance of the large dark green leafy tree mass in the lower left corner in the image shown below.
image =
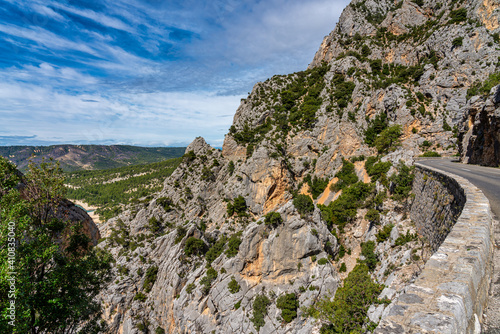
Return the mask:
[[[92,246],[80,224],[64,219],[63,181],[58,164],[30,164],[23,177],[0,158],[1,333],[104,330],[95,297],[111,278],[112,258]],[[16,246],[12,262],[9,238]],[[14,299],[10,277],[15,278]],[[10,300],[15,300],[15,326],[8,323]]]

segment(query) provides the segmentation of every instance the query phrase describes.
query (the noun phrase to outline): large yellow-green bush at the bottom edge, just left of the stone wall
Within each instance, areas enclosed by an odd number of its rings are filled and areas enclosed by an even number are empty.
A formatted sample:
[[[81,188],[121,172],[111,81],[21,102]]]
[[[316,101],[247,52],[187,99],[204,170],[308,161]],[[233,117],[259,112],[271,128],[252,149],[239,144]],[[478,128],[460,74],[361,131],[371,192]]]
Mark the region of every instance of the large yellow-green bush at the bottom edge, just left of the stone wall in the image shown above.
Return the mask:
[[[364,333],[368,308],[377,302],[383,289],[372,281],[368,267],[358,264],[337,289],[335,298],[324,297],[315,305],[305,309],[305,315],[328,322],[321,333]]]

